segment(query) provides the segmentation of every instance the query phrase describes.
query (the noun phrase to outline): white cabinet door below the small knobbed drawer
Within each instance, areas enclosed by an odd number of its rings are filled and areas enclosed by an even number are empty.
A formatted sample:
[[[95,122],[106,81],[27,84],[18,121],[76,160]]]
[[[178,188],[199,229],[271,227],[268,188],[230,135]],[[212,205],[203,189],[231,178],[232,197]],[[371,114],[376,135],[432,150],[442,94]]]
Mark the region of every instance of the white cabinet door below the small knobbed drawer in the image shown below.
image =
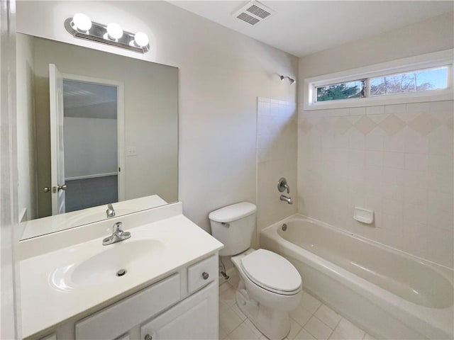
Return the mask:
[[[218,289],[209,284],[140,327],[141,339],[217,339]]]

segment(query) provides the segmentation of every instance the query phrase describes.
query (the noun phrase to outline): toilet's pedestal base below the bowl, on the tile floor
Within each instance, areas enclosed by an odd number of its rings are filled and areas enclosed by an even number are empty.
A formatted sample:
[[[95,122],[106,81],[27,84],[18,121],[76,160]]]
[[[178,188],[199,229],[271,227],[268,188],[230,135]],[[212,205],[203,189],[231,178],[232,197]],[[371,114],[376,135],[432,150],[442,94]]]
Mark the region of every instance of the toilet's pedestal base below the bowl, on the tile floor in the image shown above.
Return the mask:
[[[273,310],[253,300],[245,288],[236,291],[238,308],[268,339],[284,339],[290,331],[289,312]]]

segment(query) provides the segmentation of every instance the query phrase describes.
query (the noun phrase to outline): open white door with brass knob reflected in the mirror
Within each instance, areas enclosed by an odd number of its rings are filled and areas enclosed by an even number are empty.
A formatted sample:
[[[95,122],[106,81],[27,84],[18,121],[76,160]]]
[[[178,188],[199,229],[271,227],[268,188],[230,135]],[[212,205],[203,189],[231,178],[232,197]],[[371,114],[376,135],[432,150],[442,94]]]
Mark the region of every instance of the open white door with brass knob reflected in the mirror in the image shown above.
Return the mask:
[[[65,157],[63,154],[63,77],[49,64],[50,100],[50,185],[52,215],[65,212]]]

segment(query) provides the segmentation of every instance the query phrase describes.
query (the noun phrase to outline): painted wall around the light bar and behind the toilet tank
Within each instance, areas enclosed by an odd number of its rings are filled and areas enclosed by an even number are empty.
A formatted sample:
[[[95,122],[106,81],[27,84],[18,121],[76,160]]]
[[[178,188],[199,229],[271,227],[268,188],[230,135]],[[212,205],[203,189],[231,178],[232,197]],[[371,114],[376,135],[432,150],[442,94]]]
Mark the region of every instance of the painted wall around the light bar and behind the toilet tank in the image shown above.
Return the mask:
[[[72,38],[63,22],[83,11],[150,36],[145,55]],[[45,25],[36,25],[36,19]],[[18,31],[179,67],[179,200],[209,229],[223,205],[255,203],[257,97],[294,102],[296,57],[162,1],[19,1]]]

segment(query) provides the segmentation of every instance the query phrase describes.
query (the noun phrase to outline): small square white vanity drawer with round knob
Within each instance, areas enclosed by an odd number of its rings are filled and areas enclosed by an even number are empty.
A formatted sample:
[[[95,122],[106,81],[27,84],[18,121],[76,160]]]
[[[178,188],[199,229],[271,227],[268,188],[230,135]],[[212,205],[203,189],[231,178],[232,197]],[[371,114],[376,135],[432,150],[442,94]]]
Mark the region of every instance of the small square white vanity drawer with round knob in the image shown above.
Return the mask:
[[[189,294],[213,281],[218,275],[218,256],[193,264],[187,268],[187,290]]]

